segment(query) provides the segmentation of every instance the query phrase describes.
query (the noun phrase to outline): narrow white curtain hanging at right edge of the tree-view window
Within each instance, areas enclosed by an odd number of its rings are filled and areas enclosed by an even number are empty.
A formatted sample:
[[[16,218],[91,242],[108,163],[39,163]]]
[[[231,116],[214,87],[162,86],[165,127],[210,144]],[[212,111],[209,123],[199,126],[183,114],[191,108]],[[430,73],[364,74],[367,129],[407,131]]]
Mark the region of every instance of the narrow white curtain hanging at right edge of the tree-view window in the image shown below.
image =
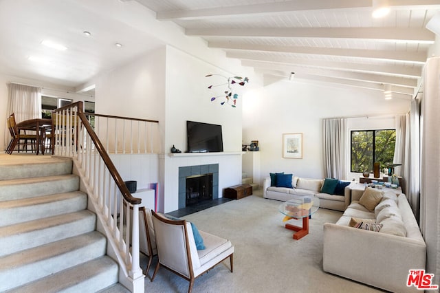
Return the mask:
[[[403,177],[408,176],[408,168],[406,161],[408,160],[408,147],[409,147],[409,127],[407,127],[409,115],[395,116],[396,126],[396,144],[394,148],[393,164],[401,164],[401,166],[395,167],[395,174]],[[402,191],[406,194],[405,186],[402,186]]]

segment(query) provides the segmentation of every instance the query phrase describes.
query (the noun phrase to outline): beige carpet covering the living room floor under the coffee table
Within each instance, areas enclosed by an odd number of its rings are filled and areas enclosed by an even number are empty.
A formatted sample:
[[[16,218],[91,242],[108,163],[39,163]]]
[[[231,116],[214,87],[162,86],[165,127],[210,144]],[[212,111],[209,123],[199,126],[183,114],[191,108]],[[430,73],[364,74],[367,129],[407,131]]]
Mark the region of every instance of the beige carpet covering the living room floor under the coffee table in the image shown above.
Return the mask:
[[[297,241],[284,228],[280,204],[264,199],[260,191],[184,217],[200,230],[230,239],[235,247],[234,272],[224,261],[199,276],[192,292],[380,292],[322,270],[322,224],[336,222],[342,213],[318,210],[309,221],[309,235]],[[146,268],[146,259],[141,261]],[[145,279],[145,292],[187,291],[188,281],[164,268],[154,282]]]

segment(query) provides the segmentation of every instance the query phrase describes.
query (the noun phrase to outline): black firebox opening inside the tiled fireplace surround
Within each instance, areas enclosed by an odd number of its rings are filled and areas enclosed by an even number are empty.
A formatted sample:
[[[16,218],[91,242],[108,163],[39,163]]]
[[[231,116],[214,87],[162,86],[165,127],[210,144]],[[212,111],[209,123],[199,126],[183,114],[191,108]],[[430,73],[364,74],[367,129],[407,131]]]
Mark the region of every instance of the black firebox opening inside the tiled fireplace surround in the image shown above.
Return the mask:
[[[186,177],[186,206],[212,200],[212,173]]]

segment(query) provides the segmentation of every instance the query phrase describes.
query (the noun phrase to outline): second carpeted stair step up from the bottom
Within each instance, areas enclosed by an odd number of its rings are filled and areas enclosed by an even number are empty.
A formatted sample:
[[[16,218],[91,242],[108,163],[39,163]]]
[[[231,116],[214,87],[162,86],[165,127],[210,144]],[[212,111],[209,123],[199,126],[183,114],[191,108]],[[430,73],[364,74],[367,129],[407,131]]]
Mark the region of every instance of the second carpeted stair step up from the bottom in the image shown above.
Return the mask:
[[[94,231],[0,257],[0,291],[102,257],[106,251],[107,239]]]

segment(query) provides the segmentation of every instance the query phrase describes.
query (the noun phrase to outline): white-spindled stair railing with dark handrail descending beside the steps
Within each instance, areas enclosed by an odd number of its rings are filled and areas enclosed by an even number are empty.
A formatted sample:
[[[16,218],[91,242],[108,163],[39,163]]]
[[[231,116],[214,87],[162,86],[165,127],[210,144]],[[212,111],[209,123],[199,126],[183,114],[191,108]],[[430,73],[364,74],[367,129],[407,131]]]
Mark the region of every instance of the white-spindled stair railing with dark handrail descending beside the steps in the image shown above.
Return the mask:
[[[121,283],[132,292],[144,292],[139,250],[141,199],[126,188],[87,121],[83,102],[56,109],[52,115],[54,155],[74,160],[126,278]]]

